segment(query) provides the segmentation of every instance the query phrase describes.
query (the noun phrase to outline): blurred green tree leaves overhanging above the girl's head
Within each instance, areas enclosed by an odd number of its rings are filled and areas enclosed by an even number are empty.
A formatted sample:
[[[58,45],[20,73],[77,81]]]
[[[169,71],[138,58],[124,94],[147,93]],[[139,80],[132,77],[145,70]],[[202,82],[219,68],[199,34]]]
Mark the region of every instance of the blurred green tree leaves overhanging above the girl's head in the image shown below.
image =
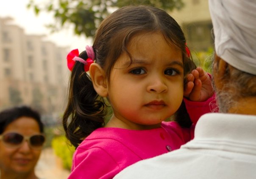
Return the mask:
[[[33,8],[35,14],[53,13],[56,22],[47,24],[52,32],[73,24],[75,34],[92,37],[99,23],[114,9],[139,4],[153,5],[166,11],[184,6],[182,0],[45,0],[44,3],[30,0],[27,7]]]

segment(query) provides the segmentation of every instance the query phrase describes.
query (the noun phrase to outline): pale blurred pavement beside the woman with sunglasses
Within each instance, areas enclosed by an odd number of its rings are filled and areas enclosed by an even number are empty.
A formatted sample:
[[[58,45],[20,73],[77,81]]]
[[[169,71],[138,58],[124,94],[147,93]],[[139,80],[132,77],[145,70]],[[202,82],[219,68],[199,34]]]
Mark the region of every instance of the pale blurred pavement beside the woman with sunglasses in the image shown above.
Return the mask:
[[[61,160],[52,148],[42,150],[35,172],[40,179],[67,179],[70,174],[69,170],[62,168]]]

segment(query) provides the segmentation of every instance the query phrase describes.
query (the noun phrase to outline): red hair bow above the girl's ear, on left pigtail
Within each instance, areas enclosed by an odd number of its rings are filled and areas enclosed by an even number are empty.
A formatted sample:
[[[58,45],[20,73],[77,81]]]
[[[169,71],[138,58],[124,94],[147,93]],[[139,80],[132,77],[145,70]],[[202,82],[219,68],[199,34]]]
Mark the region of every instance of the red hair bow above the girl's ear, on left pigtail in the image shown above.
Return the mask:
[[[86,60],[80,58],[78,49],[74,49],[67,54],[67,67],[70,71],[72,71],[76,61],[84,64],[84,71],[89,71],[90,65],[93,63],[91,58],[87,58]]]

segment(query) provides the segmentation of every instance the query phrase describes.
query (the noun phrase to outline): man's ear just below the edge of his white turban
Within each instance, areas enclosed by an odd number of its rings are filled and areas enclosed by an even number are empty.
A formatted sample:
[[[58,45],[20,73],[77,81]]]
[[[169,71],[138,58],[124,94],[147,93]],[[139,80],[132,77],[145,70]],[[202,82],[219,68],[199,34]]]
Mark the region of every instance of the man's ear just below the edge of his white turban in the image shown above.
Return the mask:
[[[214,63],[213,63],[213,77],[214,77],[214,84],[218,89],[222,89],[225,84],[228,66],[229,65],[227,62],[225,62],[215,54]],[[225,78],[223,78],[224,76]]]

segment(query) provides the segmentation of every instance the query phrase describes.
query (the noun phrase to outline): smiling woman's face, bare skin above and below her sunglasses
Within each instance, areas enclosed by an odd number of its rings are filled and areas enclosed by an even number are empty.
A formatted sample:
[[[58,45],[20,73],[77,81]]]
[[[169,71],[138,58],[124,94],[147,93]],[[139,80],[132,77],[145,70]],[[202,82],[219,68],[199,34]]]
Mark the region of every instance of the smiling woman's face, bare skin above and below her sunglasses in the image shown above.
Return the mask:
[[[3,134],[15,132],[23,136],[39,134],[39,125],[31,117],[20,117],[7,125]],[[29,173],[33,172],[39,159],[41,149],[31,149],[28,141],[19,148],[10,148],[0,140],[0,168],[1,172]]]

